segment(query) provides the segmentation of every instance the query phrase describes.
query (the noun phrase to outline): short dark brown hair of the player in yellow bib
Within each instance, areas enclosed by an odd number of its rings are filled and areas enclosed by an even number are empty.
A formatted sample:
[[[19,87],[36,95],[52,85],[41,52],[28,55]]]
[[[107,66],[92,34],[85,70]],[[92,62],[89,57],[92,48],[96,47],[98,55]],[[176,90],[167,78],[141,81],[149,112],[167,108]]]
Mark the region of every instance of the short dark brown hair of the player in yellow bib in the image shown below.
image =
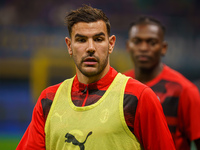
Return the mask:
[[[78,8],[77,10],[72,10],[65,17],[65,23],[67,24],[69,35],[71,36],[72,27],[78,22],[96,22],[103,20],[107,27],[107,33],[110,36],[110,21],[105,13],[97,8],[93,8],[88,5],[83,5],[83,7]]]

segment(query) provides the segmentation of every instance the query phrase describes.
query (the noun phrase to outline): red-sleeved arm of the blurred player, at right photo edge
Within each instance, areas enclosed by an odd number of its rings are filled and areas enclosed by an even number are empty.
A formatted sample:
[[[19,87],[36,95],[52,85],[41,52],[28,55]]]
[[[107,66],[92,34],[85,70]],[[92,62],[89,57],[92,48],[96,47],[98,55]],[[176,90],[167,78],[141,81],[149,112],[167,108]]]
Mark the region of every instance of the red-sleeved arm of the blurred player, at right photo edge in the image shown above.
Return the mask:
[[[195,142],[200,150],[200,96],[196,86],[185,88],[180,97],[180,129],[188,140]]]

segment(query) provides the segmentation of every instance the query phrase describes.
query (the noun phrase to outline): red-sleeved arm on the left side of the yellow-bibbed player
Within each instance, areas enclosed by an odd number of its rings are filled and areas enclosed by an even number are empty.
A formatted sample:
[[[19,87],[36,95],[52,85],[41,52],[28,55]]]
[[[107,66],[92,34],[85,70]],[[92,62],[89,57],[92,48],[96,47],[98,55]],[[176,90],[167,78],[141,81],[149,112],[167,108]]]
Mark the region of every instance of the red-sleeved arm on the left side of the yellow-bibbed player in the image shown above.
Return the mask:
[[[16,150],[45,150],[45,119],[41,98],[42,96],[40,96],[34,107],[31,123],[24,133]]]

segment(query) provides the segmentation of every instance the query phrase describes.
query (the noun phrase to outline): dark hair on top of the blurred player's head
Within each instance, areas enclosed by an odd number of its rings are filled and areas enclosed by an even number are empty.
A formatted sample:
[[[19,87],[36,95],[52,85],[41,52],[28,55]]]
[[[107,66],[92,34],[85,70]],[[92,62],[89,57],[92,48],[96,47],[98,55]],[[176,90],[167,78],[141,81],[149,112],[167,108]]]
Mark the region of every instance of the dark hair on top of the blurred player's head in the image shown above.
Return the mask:
[[[139,24],[154,24],[154,25],[157,25],[163,31],[163,35],[165,35],[165,32],[166,32],[165,26],[159,20],[157,20],[154,17],[144,16],[144,15],[139,16],[134,22],[132,22],[130,24],[129,31],[133,26],[139,25]]]

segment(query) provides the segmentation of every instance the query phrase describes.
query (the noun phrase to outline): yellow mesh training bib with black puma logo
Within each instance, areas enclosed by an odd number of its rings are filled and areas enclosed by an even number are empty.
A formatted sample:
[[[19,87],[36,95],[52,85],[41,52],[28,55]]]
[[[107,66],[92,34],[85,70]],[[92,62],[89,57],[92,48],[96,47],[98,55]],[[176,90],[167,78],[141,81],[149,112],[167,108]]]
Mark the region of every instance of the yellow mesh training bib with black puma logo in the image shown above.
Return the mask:
[[[47,150],[139,150],[123,114],[128,78],[118,74],[95,104],[76,107],[71,100],[72,79],[59,87],[45,125]]]

